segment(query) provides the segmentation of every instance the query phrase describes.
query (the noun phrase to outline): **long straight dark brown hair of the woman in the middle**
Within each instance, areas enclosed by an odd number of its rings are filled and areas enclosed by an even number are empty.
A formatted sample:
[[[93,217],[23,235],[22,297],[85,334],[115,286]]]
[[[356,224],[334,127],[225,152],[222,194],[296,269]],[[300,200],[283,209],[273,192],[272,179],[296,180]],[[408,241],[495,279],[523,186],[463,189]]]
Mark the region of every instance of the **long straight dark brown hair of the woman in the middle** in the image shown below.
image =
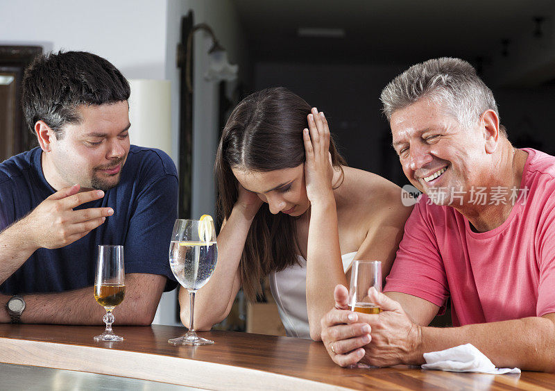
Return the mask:
[[[218,186],[218,218],[228,219],[238,197],[232,167],[257,172],[298,167],[305,163],[302,129],[311,106],[286,88],[250,94],[234,108],[223,128],[214,174]],[[345,160],[330,140],[334,167]],[[254,301],[266,274],[298,263],[299,246],[294,217],[272,215],[263,203],[250,225],[239,262],[246,297]]]

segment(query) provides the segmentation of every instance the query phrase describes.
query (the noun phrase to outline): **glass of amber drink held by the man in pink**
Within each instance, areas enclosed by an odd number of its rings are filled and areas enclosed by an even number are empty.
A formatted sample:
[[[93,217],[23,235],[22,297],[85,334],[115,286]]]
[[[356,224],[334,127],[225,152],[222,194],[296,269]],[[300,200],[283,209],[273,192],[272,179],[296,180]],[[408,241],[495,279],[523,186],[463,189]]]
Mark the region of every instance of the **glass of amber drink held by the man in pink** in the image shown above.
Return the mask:
[[[382,292],[382,263],[378,260],[355,260],[349,289],[349,306],[352,311],[379,314],[380,308],[368,297],[368,289],[371,287]]]

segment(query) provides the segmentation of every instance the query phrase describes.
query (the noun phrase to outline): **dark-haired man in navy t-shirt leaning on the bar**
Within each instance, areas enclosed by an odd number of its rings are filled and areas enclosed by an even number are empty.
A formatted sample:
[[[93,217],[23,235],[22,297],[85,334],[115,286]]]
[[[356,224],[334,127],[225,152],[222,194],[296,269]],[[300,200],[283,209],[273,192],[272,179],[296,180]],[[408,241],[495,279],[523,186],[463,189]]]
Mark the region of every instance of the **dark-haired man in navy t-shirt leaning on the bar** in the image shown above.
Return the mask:
[[[51,53],[26,70],[22,103],[40,147],[0,164],[0,322],[100,323],[90,288],[99,244],[125,247],[119,324],[151,324],[175,284],[176,167],[130,146],[129,94],[92,53]]]

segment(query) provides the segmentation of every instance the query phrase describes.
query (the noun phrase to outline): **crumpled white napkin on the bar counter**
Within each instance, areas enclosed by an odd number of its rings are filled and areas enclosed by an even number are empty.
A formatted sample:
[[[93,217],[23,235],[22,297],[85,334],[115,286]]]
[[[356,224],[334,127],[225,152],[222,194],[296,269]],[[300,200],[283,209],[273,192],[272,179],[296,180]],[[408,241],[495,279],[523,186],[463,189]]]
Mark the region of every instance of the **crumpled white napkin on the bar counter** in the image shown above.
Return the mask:
[[[484,353],[472,344],[424,353],[424,369],[441,369],[450,372],[480,372],[484,374],[520,374],[518,368],[496,368]]]

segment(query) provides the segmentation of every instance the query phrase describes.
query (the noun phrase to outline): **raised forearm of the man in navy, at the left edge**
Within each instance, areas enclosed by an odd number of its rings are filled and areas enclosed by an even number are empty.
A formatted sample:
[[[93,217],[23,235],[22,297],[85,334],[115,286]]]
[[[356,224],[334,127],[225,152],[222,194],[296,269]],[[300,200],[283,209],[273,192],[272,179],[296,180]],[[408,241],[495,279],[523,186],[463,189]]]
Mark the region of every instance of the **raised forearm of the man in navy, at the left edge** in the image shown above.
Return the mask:
[[[0,233],[0,285],[37,249],[25,232],[24,221],[19,220]]]

